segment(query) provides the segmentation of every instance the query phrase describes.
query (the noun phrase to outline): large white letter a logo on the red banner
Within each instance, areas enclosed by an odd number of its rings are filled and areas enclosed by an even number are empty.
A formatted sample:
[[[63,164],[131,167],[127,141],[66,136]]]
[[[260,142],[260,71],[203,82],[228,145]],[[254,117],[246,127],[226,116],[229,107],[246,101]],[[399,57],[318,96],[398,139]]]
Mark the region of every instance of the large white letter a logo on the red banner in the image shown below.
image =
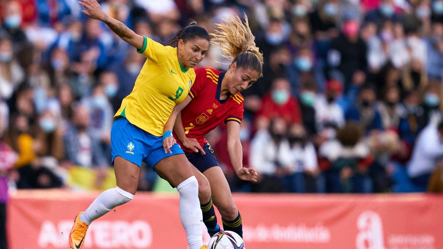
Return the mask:
[[[357,249],[384,249],[383,228],[379,214],[364,211],[357,218],[359,233],[355,240]]]

